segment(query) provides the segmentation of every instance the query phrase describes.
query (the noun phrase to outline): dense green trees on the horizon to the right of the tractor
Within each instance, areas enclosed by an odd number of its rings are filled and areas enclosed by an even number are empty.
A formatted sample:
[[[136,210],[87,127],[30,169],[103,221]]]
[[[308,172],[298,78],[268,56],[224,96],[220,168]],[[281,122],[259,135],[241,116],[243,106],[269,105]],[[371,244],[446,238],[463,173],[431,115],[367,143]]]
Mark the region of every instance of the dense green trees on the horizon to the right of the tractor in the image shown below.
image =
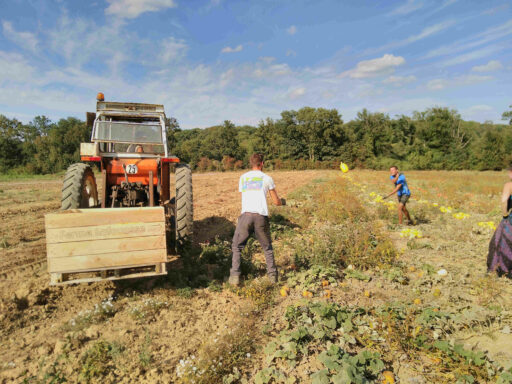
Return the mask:
[[[438,107],[394,119],[364,109],[347,123],[335,109],[304,107],[258,127],[226,121],[178,129],[173,140],[174,152],[199,170],[242,167],[255,151],[277,169],[330,168],[344,161],[369,168],[494,170],[512,160],[509,126],[464,121]]]

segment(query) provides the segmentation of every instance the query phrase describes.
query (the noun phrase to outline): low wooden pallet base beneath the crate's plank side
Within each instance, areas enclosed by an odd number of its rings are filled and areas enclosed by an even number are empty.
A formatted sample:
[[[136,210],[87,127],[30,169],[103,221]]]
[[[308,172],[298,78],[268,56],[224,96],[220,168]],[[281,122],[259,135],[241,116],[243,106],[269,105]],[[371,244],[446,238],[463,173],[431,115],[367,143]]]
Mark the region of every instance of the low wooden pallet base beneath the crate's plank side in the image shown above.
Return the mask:
[[[50,273],[50,285],[91,283],[105,280],[135,279],[166,275],[166,263],[116,269],[98,269],[70,273]]]

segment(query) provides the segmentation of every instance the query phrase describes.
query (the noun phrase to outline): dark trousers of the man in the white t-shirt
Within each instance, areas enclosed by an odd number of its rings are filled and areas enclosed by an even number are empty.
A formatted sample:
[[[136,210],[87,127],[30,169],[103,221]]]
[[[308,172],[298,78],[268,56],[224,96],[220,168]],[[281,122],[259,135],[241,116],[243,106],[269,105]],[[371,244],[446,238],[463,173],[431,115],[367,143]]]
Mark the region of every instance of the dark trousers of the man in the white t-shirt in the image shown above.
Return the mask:
[[[242,251],[253,231],[256,235],[256,239],[258,239],[261,248],[263,249],[263,253],[265,254],[267,274],[269,276],[277,275],[277,268],[274,262],[274,250],[272,249],[272,239],[270,238],[270,222],[268,220],[268,216],[248,212],[242,213],[238,218],[238,224],[236,225],[233,244],[231,246],[233,259],[231,261],[230,275],[240,276],[240,257],[242,256]]]

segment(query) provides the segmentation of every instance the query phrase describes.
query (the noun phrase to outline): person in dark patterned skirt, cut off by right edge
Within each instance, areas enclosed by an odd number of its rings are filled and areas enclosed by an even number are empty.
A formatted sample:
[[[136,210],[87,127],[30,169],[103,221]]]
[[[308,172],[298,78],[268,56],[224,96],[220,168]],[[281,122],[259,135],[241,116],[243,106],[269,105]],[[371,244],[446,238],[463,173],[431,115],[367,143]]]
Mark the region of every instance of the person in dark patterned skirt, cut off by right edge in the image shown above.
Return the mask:
[[[512,166],[508,168],[508,178],[501,195],[503,219],[492,236],[487,256],[487,272],[512,278]]]

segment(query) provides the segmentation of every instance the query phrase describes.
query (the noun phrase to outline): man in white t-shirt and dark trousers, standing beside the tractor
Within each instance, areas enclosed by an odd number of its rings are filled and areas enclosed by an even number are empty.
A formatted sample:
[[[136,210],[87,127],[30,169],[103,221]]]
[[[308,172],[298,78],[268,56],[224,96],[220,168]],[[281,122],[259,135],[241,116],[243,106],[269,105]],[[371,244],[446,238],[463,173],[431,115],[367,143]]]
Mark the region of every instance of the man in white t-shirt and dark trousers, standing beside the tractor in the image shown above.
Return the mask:
[[[240,284],[240,257],[242,250],[252,232],[256,235],[267,262],[267,274],[271,282],[277,283],[277,268],[274,261],[272,239],[270,238],[270,223],[268,220],[267,193],[270,194],[275,205],[284,205],[285,200],[280,199],[276,192],[274,180],[261,170],[263,169],[263,155],[255,153],[250,159],[252,170],[240,177],[238,186],[242,193],[242,214],[238,218],[235,235],[233,236],[233,258],[229,273],[229,283]]]

